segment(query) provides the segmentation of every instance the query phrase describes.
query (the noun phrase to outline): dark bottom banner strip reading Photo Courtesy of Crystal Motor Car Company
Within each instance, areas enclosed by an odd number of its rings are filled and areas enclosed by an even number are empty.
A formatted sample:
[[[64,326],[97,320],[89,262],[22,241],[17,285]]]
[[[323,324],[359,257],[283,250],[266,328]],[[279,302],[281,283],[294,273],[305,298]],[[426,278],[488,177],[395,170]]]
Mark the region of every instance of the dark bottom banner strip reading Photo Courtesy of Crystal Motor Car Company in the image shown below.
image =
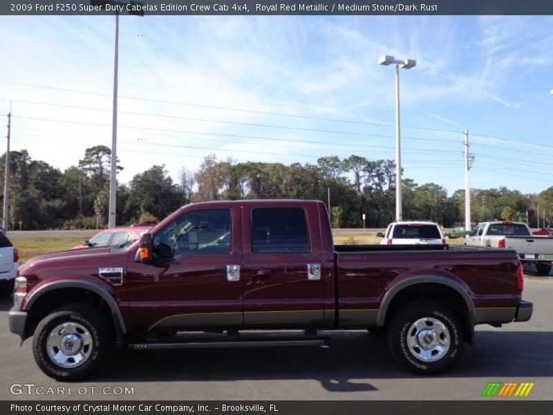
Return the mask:
[[[3,415],[549,415],[551,402],[500,401],[2,401]]]

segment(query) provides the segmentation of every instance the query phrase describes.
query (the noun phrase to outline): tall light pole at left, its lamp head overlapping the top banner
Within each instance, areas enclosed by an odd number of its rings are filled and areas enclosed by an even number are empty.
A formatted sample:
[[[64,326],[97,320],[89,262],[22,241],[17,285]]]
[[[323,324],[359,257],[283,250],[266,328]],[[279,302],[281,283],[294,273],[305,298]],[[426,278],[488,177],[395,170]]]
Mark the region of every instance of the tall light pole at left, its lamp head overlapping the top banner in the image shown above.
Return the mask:
[[[119,0],[91,0],[92,6],[111,6],[115,10],[115,64],[113,68],[113,124],[111,131],[111,172],[109,175],[109,208],[108,228],[115,228],[115,212],[117,207],[117,89],[119,67],[119,13],[126,10],[129,15],[144,16],[144,3],[130,1],[124,3]],[[126,8],[130,5],[131,8]]]

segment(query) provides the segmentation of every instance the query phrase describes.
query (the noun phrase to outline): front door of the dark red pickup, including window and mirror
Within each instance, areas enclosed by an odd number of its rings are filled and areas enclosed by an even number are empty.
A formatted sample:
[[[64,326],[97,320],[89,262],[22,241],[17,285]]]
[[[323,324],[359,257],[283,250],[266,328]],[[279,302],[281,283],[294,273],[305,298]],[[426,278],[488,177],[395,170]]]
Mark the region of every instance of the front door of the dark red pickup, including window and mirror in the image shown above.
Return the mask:
[[[243,326],[241,210],[191,205],[153,234],[153,265],[129,264],[129,308],[147,331]],[[238,271],[238,272],[237,272]]]

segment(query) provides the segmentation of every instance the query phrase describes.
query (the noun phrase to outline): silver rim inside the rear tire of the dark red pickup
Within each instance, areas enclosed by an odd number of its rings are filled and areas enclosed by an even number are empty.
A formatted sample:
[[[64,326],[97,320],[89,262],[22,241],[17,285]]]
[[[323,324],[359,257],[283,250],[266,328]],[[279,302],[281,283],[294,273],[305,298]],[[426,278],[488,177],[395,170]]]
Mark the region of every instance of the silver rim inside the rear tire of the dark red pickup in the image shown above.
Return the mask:
[[[435,362],[444,357],[451,345],[447,326],[433,317],[415,321],[406,332],[409,351],[422,362]]]

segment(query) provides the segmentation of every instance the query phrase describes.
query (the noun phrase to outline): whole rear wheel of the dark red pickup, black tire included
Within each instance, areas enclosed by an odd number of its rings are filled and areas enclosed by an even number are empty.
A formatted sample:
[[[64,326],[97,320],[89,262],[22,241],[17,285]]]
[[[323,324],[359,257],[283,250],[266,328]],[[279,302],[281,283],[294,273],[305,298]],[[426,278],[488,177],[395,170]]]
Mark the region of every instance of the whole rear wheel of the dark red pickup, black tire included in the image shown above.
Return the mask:
[[[399,308],[387,324],[393,356],[417,374],[438,374],[453,365],[463,347],[462,326],[449,308],[421,300]]]

